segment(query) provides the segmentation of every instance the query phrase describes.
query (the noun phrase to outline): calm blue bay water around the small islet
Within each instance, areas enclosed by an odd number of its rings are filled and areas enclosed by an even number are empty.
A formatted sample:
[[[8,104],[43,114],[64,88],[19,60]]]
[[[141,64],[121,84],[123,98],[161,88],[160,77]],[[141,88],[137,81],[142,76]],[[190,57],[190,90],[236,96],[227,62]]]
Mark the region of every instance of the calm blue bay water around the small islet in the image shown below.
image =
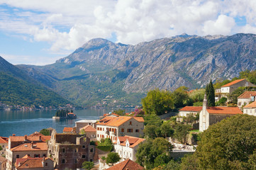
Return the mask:
[[[78,120],[96,120],[109,111],[111,109],[74,110],[74,114],[78,117],[74,120],[52,120],[56,111],[0,111],[0,136],[30,135],[43,128],[54,128],[57,132],[62,132],[64,127],[74,127]]]

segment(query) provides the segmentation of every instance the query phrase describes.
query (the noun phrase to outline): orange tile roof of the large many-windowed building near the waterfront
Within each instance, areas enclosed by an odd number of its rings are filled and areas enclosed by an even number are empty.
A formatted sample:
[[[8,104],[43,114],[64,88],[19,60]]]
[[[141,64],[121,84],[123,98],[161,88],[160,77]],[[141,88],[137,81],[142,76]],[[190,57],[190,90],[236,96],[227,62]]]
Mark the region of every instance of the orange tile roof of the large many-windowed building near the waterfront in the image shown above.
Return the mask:
[[[106,116],[105,118],[99,120],[96,125],[108,125],[108,126],[115,126],[118,127],[120,125],[123,125],[123,123],[126,123],[128,120],[134,118],[138,122],[144,122],[144,119],[142,117],[130,117],[130,116],[119,116],[119,117],[111,117]]]

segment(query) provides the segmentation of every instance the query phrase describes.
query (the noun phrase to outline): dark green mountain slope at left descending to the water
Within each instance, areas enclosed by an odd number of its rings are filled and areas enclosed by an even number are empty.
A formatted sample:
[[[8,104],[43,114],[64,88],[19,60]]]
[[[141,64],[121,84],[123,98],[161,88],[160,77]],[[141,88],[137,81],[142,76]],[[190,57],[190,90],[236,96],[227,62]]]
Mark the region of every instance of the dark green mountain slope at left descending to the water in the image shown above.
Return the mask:
[[[0,57],[0,101],[7,105],[59,106],[71,103]]]

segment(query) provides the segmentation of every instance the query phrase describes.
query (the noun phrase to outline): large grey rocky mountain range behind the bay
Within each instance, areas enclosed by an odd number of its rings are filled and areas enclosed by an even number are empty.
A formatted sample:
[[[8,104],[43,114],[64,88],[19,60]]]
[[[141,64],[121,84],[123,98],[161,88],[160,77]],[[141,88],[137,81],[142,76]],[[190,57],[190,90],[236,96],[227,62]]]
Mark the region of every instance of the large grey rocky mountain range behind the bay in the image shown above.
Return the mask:
[[[96,38],[55,64],[20,65],[34,79],[77,104],[126,106],[150,89],[195,89],[255,69],[256,35],[178,35],[138,45]]]

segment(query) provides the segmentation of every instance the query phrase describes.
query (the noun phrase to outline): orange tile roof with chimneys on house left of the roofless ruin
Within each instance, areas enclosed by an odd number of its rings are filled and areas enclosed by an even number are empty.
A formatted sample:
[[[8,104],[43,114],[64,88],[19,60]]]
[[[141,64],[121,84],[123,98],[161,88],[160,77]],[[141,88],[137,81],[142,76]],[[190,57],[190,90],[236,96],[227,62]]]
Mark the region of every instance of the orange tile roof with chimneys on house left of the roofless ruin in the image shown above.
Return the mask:
[[[33,145],[33,147],[32,147]],[[47,151],[48,145],[45,142],[37,142],[37,143],[24,143],[18,145],[18,147],[13,147],[10,149],[13,151]]]

